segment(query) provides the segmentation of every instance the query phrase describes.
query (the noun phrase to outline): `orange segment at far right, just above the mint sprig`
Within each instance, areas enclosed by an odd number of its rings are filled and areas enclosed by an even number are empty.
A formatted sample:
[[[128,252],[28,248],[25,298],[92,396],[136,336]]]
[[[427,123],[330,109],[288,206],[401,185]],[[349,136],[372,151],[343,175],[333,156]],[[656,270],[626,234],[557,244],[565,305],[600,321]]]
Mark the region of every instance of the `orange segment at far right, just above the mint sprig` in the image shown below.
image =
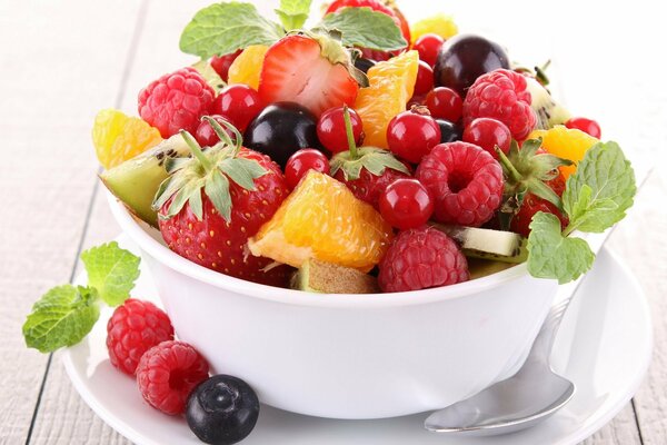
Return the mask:
[[[577,129],[568,129],[565,126],[555,126],[549,130],[535,130],[528,135],[528,139],[542,138],[542,148],[559,158],[579,162],[584,159],[586,150],[599,142],[599,139]],[[567,179],[577,170],[577,166],[560,167],[560,172]]]

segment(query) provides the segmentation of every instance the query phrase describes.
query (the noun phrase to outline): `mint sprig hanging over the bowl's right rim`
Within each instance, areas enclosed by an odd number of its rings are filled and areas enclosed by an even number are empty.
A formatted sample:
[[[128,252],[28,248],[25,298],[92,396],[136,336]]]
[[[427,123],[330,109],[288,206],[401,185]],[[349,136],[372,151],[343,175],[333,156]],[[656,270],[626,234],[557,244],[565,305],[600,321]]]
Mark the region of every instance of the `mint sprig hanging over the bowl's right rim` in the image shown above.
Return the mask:
[[[528,271],[559,284],[577,279],[593,266],[595,255],[573,231],[603,233],[621,220],[637,191],[635,172],[616,142],[598,142],[586,151],[563,194],[569,219],[565,230],[554,215],[538,211],[530,222]]]

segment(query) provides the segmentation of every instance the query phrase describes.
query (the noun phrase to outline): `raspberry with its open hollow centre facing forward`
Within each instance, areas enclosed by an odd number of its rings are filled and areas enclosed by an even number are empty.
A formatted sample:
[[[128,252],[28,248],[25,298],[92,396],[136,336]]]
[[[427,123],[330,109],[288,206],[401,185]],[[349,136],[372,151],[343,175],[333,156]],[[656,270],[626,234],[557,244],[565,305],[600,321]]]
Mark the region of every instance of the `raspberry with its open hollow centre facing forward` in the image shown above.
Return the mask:
[[[468,142],[440,144],[426,155],[416,178],[435,198],[434,219],[479,227],[502,198],[502,168],[491,155]]]

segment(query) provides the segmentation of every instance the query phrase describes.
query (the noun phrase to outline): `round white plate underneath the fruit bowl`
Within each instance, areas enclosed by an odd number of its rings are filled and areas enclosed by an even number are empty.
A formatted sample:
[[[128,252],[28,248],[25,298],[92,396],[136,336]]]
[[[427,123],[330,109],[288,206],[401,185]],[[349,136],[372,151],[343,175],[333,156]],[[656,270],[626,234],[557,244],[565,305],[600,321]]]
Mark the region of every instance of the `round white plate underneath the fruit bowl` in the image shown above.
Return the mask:
[[[127,237],[121,246],[137,247]],[[83,281],[82,277],[79,277]],[[133,295],[159,304],[143,269]],[[135,380],[109,363],[102,312],[92,333],[63,353],[81,397],[119,433],[138,445],[200,444],[186,422],[142,402]],[[577,385],[573,400],[535,428],[500,437],[458,438],[427,433],[425,414],[381,421],[332,421],[262,406],[243,445],[574,445],[605,425],[630,399],[648,367],[653,333],[644,294],[629,273],[603,249],[565,316],[554,349],[556,370]],[[447,378],[442,376],[442,378]],[[396,387],[397,392],[410,392]],[[298,397],[296,394],[295,397]]]

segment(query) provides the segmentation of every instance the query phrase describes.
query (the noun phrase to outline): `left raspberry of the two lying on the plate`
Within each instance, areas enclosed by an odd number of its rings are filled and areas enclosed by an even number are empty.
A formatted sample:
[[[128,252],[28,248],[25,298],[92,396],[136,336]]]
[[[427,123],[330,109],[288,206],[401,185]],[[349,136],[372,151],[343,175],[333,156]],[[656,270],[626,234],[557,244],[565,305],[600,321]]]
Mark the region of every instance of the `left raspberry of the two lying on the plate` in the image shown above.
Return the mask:
[[[139,359],[151,347],[173,339],[167,314],[149,301],[129,298],[107,323],[107,349],[111,365],[135,375]]]

